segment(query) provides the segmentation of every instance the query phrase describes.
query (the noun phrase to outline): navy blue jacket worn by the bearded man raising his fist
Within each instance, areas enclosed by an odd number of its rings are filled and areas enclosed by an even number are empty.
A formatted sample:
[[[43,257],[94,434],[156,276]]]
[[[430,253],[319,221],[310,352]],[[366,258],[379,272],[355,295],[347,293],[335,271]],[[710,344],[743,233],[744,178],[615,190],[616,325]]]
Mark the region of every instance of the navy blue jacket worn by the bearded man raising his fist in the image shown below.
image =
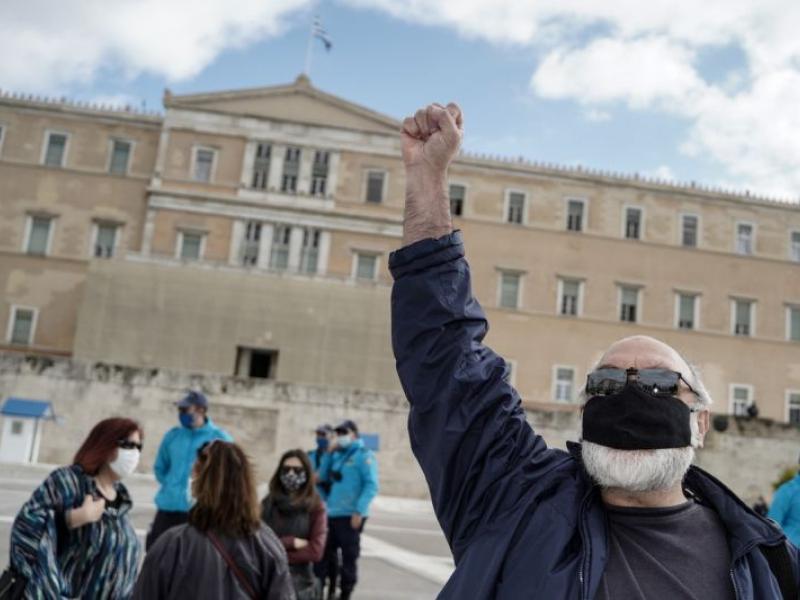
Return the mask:
[[[577,444],[551,449],[533,431],[505,362],[482,344],[488,326],[460,232],[402,248],[389,266],[411,447],[456,564],[439,597],[593,598],[608,553],[599,491]],[[779,598],[758,546],[784,544],[781,531],[701,469],[692,467],[684,485],[727,529],[737,598]]]

